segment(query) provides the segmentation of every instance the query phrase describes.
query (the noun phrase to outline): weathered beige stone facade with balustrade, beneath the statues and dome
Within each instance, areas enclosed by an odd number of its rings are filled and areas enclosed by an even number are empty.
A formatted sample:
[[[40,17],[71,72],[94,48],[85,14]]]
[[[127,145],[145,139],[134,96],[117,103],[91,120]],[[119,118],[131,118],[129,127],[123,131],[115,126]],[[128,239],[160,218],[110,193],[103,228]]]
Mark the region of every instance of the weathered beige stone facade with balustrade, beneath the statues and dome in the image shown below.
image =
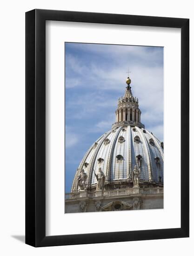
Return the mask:
[[[82,193],[82,192],[81,192]],[[66,194],[65,213],[163,209],[163,188],[116,189]]]

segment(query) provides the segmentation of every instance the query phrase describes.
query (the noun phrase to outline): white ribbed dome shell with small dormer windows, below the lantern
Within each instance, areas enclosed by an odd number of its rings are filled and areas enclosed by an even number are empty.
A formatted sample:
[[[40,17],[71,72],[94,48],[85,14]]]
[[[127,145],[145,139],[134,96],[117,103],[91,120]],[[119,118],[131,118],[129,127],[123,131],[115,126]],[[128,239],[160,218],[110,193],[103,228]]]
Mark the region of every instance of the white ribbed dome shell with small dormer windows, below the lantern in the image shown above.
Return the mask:
[[[87,184],[96,185],[95,173],[101,168],[106,184],[131,183],[134,166],[140,166],[140,185],[163,183],[163,148],[161,142],[149,131],[137,126],[121,126],[102,135],[89,148],[75,175],[83,168]]]

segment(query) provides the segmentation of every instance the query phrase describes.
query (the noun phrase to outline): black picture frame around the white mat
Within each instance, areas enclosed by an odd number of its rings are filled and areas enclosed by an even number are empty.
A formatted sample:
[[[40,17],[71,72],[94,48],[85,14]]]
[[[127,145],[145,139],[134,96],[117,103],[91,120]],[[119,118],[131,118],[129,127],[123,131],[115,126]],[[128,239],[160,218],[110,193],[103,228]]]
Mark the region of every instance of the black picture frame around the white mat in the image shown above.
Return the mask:
[[[181,28],[181,228],[46,236],[46,20]],[[26,243],[34,247],[189,236],[189,19],[34,9],[26,13]]]

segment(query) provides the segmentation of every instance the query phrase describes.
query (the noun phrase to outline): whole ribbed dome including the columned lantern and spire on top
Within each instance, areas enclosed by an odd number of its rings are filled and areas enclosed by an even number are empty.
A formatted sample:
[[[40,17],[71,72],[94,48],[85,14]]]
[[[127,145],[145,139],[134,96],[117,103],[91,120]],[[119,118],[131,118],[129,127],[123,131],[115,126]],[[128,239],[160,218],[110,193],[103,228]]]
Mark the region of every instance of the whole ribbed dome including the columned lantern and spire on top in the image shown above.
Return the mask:
[[[128,85],[118,101],[116,122],[112,129],[94,141],[80,162],[72,192],[78,191],[78,176],[84,170],[87,189],[96,189],[96,175],[101,168],[105,190],[133,187],[133,169],[140,170],[140,187],[163,186],[163,142],[140,122],[138,99]]]

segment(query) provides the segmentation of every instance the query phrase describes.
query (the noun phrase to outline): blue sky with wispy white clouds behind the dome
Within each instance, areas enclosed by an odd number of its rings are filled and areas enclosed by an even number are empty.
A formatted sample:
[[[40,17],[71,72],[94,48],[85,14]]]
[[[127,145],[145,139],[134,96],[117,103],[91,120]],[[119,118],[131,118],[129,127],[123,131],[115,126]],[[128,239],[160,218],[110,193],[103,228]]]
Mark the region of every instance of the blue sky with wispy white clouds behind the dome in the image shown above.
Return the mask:
[[[128,74],[141,122],[163,141],[163,47],[65,43],[65,187],[87,149],[115,122]]]

